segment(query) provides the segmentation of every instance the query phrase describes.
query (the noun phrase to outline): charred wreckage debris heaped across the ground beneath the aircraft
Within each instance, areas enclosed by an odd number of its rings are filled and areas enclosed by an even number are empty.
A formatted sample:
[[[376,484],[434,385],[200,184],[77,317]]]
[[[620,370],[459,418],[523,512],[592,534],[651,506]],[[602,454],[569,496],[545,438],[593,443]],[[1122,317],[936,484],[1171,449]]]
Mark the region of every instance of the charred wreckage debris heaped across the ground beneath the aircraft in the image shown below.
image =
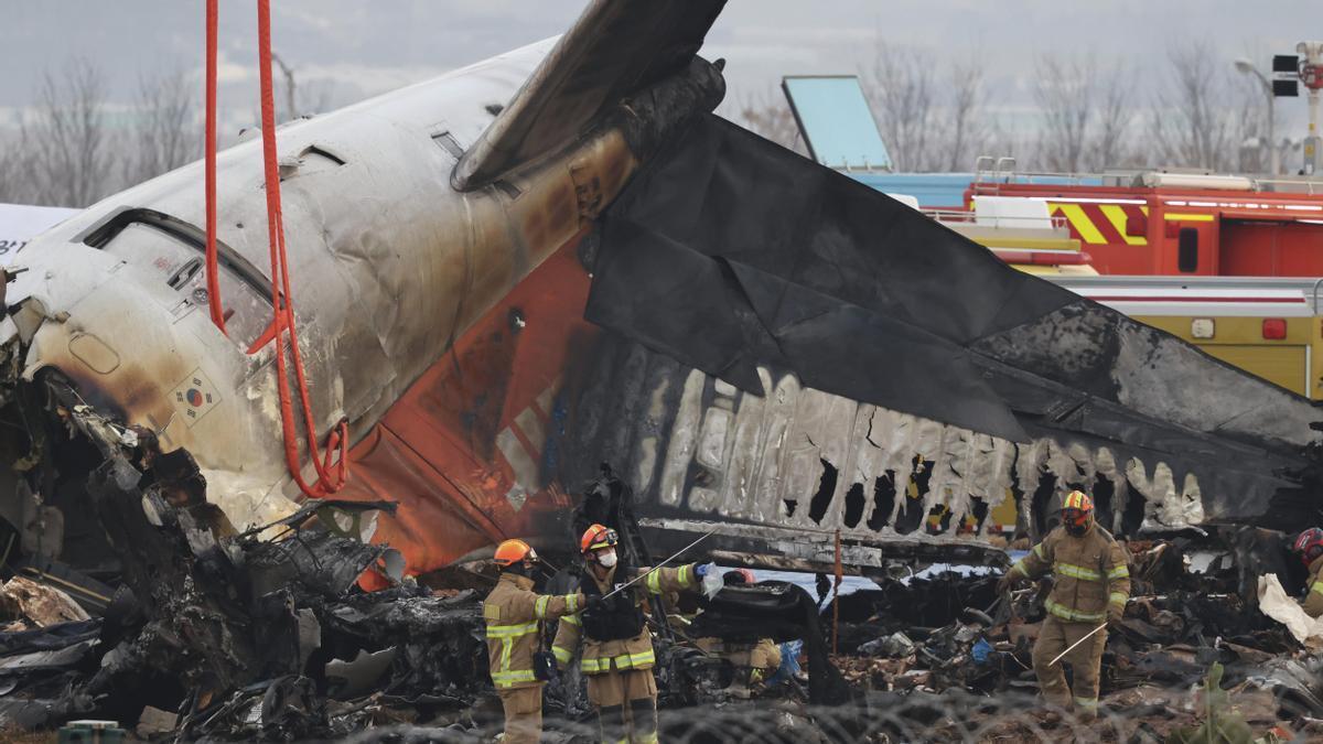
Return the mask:
[[[50,585],[0,586],[0,728],[98,718],[140,737],[210,741],[479,740],[500,729],[472,588],[482,575],[452,572],[443,589],[404,579],[394,551],[359,539],[392,503],[319,500],[239,532],[204,498],[187,450],[93,438],[111,442],[87,495],[122,585],[99,617]],[[648,559],[631,495],[609,470],[577,518],[619,524],[624,548]],[[676,600],[675,617],[692,617],[672,628],[659,613],[655,628],[662,733],[1142,740],[1197,732],[1212,720],[1207,700],[1224,694],[1216,725],[1319,733],[1323,658],[1256,605],[1261,575],[1299,586],[1279,535],[1242,528],[1129,548],[1134,596],[1109,639],[1094,727],[1036,698],[1029,654],[1045,588],[998,596],[986,569],[946,569],[875,580],[826,609],[777,581],[728,586],[699,608]],[[364,572],[390,588],[363,590]],[[568,590],[569,576],[548,590]],[[733,684],[730,665],[697,638],[798,641],[808,674],[792,673],[798,650],[783,651],[770,679]],[[579,687],[573,671],[548,686],[548,736],[595,736]]]

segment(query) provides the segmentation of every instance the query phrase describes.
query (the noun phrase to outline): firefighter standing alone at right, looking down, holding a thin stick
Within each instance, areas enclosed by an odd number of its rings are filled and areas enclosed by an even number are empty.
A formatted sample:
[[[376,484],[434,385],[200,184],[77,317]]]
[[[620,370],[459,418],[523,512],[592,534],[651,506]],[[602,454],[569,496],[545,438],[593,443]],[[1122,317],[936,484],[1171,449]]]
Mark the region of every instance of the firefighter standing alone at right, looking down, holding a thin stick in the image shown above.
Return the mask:
[[[1033,671],[1048,702],[1062,708],[1070,708],[1073,702],[1084,718],[1094,718],[1107,630],[1094,633],[1061,662],[1050,662],[1098,625],[1119,626],[1130,598],[1130,568],[1121,544],[1094,522],[1093,499],[1080,491],[1066,495],[1061,526],[1007,571],[998,590],[1004,593],[1023,579],[1039,579],[1048,572],[1053,575],[1053,586],[1046,601],[1048,617],[1033,645]],[[1062,662],[1074,670],[1073,699]]]

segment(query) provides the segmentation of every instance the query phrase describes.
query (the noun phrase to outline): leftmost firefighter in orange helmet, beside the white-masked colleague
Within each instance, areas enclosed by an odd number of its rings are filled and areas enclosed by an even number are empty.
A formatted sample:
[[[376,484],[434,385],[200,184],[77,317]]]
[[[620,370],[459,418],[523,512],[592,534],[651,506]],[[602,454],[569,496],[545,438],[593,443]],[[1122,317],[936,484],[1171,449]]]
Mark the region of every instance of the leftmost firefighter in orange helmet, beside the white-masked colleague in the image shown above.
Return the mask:
[[[533,592],[537,552],[523,540],[496,547],[500,580],[483,602],[487,655],[492,684],[505,708],[504,744],[536,743],[542,736],[542,684],[534,654],[542,621],[578,612],[583,594],[550,596]]]

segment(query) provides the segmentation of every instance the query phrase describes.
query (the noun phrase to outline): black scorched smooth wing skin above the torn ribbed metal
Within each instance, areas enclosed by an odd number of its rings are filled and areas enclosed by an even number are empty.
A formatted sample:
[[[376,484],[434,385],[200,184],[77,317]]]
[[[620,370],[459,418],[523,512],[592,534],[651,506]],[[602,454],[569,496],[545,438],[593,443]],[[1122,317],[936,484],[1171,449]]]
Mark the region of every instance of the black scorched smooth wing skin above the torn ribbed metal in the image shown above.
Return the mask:
[[[609,209],[587,319],[757,395],[757,367],[1027,442],[1106,446],[1209,520],[1298,524],[1311,404],[718,116]],[[1275,500],[1274,500],[1275,499]],[[1269,512],[1273,512],[1269,515]]]

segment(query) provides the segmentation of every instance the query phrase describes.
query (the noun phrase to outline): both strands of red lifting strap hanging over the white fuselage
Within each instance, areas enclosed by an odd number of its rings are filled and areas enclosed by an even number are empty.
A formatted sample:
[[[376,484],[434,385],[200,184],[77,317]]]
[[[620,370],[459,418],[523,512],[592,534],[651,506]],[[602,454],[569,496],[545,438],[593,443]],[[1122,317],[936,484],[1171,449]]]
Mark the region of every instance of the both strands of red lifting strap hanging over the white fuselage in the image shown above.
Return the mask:
[[[206,0],[206,291],[212,320],[225,332],[221,307],[220,273],[216,252],[216,37],[217,1]],[[284,438],[284,461],[299,490],[310,498],[324,498],[339,491],[348,479],[349,424],[340,421],[327,436],[325,455],[316,443],[316,426],[308,400],[308,384],[299,352],[299,336],[294,323],[294,301],[290,293],[290,265],[284,250],[284,225],[280,220],[280,175],[275,154],[275,103],[271,90],[271,4],[258,0],[258,64],[262,86],[262,155],[266,173],[266,218],[271,250],[271,326],[249,348],[257,353],[267,343],[275,343],[277,391],[280,396],[280,432]],[[308,436],[308,454],[316,469],[318,481],[308,483],[299,467],[299,432],[295,422],[294,401],[284,357],[284,335],[288,334],[294,377],[303,408],[303,428]],[[339,461],[332,457],[339,451]]]

